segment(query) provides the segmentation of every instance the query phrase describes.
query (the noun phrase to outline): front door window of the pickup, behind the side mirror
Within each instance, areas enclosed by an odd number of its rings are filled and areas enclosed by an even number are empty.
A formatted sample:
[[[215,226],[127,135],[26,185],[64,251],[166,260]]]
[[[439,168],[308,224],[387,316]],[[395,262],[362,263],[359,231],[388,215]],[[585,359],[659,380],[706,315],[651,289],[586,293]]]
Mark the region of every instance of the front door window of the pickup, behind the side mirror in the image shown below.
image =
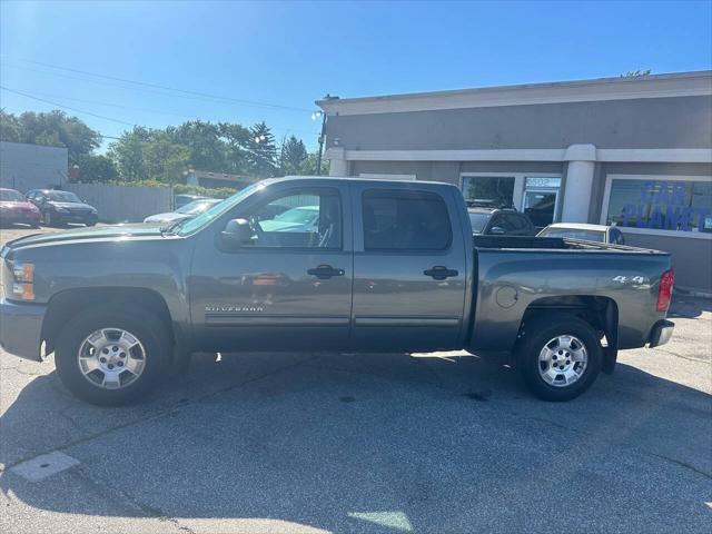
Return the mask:
[[[338,191],[290,191],[251,211],[251,243],[254,247],[338,249],[342,218]]]

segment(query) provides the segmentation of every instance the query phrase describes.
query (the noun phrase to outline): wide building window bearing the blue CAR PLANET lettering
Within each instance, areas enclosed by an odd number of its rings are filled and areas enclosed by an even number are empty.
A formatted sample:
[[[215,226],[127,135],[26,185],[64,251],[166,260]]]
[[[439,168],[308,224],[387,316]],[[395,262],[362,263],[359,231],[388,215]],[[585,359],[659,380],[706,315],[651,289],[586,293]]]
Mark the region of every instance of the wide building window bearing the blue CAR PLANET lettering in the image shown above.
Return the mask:
[[[602,222],[653,233],[712,234],[712,180],[698,177],[607,179]]]

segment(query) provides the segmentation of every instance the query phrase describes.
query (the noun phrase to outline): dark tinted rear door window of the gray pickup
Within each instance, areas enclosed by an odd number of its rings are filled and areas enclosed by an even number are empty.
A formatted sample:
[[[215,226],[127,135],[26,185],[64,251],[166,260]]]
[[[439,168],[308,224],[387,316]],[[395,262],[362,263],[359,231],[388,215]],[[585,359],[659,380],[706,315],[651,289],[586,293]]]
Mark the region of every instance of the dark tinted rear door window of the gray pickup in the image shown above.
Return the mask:
[[[425,191],[370,189],[362,198],[365,250],[445,250],[453,230],[445,201]]]

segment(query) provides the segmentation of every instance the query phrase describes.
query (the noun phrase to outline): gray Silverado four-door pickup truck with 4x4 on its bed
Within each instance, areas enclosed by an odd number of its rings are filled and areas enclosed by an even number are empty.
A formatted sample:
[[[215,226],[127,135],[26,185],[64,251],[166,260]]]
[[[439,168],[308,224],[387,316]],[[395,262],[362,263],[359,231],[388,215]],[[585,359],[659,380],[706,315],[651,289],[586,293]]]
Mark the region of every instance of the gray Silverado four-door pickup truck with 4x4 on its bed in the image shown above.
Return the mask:
[[[664,344],[670,256],[475,237],[437,182],[281,178],[191,220],[33,235],[3,247],[0,342],[77,396],[120,405],[192,352],[466,349],[510,355],[548,400],[617,350]]]

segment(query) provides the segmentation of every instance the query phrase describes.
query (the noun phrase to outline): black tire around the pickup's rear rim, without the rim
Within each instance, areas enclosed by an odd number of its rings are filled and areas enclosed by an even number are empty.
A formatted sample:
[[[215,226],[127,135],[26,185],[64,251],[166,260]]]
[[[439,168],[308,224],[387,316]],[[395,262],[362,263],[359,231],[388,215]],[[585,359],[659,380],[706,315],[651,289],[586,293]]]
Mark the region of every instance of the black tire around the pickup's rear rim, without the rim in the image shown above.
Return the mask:
[[[581,377],[570,385],[548,384],[540,373],[540,353],[557,336],[574,336],[587,354],[587,363]],[[573,358],[572,358],[573,359]],[[596,330],[577,317],[567,314],[540,316],[524,324],[517,347],[517,370],[524,384],[538,398],[552,402],[571,400],[584,393],[595,382],[601,370],[603,350]],[[557,377],[557,378],[561,378]]]

